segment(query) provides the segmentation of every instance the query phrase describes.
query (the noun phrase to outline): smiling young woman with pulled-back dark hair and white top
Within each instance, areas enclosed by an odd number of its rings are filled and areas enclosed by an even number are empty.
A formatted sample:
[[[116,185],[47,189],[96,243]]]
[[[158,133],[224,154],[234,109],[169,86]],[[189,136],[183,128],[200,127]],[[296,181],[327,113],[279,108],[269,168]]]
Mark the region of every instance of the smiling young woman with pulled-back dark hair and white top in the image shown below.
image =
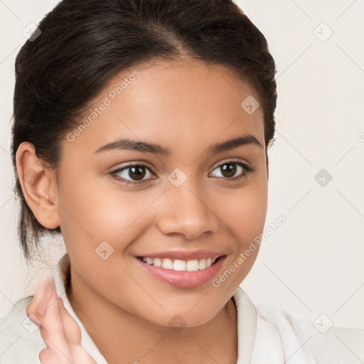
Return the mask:
[[[47,231],[67,254],[1,319],[0,363],[364,360],[362,331],[323,335],[239,287],[277,100],[247,16],[228,0],[63,0],[38,28],[16,58],[19,231],[28,259]]]

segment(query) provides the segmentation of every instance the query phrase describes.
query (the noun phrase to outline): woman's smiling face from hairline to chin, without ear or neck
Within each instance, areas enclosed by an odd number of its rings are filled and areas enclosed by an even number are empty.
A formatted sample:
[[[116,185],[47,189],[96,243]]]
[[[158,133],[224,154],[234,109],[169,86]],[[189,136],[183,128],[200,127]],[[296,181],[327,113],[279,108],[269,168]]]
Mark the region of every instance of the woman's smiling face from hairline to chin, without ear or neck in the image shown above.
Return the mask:
[[[77,289],[161,326],[198,326],[225,306],[267,210],[256,100],[228,69],[188,59],[109,82],[62,144],[58,216]]]

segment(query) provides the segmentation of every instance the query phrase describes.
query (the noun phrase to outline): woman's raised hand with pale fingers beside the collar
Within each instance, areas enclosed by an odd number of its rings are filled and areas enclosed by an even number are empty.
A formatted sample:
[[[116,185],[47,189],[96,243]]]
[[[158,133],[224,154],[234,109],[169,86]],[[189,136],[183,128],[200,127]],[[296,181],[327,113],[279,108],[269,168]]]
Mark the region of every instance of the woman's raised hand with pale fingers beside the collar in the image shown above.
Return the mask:
[[[97,364],[81,346],[81,330],[57,296],[52,279],[46,279],[33,295],[26,314],[39,326],[47,348],[39,353],[42,364]]]

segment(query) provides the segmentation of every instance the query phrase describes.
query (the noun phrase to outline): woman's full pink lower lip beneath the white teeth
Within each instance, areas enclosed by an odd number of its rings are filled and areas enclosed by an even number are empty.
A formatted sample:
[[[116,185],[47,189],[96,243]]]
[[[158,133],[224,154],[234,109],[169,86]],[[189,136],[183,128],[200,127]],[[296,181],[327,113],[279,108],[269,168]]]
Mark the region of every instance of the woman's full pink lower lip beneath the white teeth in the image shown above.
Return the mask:
[[[137,259],[137,262],[141,264],[141,267],[146,269],[153,277],[160,279],[163,282],[172,284],[176,287],[192,288],[198,287],[201,284],[213,279],[215,274],[223,264],[226,255],[220,257],[214,264],[206,269],[197,270],[195,272],[177,272],[173,269],[165,269],[162,267],[155,267],[154,265],[147,264],[142,260]]]

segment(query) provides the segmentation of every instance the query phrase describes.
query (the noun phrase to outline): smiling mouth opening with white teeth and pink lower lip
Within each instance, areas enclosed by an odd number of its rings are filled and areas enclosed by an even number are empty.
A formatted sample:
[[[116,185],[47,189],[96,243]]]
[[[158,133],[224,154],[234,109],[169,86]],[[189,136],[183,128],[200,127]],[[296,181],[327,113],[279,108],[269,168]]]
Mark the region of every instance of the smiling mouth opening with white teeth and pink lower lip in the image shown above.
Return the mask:
[[[161,282],[176,287],[192,288],[207,283],[218,273],[227,255],[216,258],[171,259],[136,257],[146,272]]]

